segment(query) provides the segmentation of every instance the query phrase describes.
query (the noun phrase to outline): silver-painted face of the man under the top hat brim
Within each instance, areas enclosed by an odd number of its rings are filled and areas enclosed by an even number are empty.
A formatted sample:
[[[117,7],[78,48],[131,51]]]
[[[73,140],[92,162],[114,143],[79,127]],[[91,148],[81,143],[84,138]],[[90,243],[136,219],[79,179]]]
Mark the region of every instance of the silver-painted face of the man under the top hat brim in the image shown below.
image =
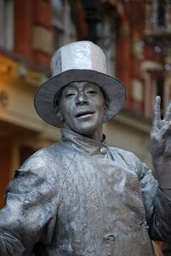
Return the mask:
[[[63,128],[94,139],[101,137],[105,98],[98,85],[89,82],[66,85],[59,108],[64,118]]]

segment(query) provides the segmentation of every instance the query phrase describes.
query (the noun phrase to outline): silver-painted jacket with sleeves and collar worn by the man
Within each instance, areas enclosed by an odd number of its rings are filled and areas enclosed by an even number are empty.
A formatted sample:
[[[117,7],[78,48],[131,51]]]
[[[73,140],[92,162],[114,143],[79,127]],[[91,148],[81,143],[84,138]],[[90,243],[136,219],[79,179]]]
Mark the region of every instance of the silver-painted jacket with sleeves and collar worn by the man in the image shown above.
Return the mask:
[[[151,256],[171,241],[171,201],[134,154],[62,130],[15,172],[0,255]]]

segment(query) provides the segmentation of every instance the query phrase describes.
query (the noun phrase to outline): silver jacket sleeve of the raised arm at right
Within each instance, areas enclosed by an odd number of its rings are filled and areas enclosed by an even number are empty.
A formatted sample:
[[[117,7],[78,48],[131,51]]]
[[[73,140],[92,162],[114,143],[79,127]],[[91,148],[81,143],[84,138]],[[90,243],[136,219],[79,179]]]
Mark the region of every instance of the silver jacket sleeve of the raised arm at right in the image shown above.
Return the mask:
[[[171,243],[171,200],[159,189],[148,166],[140,163],[140,190],[151,240]]]

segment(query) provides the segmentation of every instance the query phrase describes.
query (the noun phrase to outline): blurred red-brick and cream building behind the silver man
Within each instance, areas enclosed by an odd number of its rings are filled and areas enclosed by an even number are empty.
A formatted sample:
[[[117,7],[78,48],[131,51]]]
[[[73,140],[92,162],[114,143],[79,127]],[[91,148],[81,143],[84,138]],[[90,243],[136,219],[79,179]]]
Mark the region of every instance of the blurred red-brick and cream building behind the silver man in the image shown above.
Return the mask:
[[[50,77],[54,50],[76,40],[99,44],[108,73],[127,88],[123,111],[105,125],[108,144],[151,166],[151,108],[171,96],[171,1],[0,0],[0,207],[14,170],[60,139],[33,107]]]

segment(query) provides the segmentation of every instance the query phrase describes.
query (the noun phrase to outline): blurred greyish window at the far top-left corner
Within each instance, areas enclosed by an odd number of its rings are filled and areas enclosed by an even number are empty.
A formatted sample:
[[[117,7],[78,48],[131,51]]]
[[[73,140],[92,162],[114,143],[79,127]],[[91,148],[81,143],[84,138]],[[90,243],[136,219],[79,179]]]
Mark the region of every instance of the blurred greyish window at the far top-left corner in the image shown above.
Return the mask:
[[[0,47],[14,48],[14,1],[0,0]]]

